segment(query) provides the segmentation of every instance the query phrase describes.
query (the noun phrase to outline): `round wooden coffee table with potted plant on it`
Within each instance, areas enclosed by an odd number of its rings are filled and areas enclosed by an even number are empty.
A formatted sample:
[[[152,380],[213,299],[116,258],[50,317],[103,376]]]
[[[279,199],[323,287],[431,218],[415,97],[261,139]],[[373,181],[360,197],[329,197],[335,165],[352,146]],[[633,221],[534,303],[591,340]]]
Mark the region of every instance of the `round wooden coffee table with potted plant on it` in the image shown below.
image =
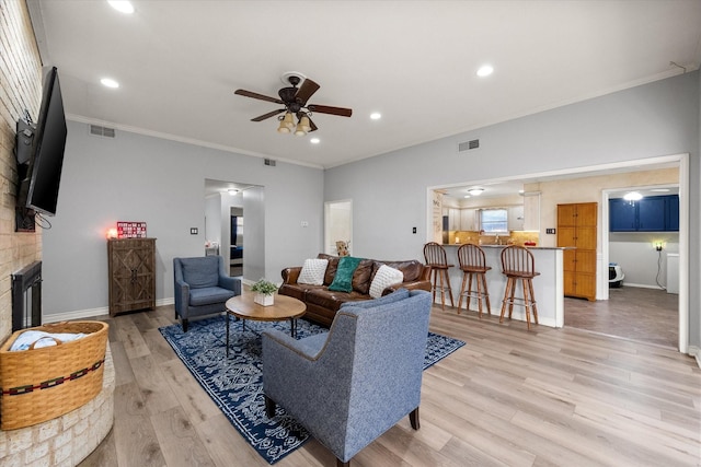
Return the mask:
[[[253,293],[243,293],[227,300],[227,357],[229,357],[229,315],[245,320],[255,322],[284,322],[289,319],[290,336],[297,336],[297,318],[307,312],[307,305],[297,299],[287,295],[275,294],[272,305],[263,306],[253,301]]]

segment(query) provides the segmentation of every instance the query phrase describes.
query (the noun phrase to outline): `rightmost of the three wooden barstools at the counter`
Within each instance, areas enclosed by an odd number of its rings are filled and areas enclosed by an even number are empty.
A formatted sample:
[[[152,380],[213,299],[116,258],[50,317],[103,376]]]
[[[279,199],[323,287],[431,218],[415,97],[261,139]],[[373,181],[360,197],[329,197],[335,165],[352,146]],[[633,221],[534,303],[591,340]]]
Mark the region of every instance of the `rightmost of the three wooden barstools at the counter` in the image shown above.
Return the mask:
[[[502,272],[506,276],[506,290],[504,291],[504,300],[502,301],[502,316],[499,323],[504,322],[504,312],[508,304],[508,317],[512,318],[514,303],[526,308],[526,323],[530,330],[530,310],[533,310],[533,322],[538,324],[538,306],[536,305],[536,296],[533,294],[533,278],[540,276],[536,272],[536,261],[533,254],[522,246],[510,245],[502,250]],[[516,285],[521,281],[524,297],[514,296]]]

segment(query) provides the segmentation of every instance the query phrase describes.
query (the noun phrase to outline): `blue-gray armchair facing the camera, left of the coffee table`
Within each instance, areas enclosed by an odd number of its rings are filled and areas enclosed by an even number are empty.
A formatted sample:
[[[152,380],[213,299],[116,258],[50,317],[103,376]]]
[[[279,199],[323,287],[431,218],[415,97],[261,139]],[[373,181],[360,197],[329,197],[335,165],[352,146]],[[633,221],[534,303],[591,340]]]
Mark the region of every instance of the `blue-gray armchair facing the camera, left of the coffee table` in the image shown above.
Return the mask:
[[[191,317],[221,313],[227,300],[241,295],[241,281],[229,277],[221,256],[173,258],[175,319],[187,332]]]

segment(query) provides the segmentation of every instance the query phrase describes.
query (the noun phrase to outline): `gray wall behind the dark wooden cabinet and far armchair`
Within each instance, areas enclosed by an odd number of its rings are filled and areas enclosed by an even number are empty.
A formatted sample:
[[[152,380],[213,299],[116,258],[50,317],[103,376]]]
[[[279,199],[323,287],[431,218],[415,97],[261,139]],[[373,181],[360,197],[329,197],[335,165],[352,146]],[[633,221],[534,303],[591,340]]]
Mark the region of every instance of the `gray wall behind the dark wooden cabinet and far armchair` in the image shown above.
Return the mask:
[[[157,244],[157,301],[172,301],[175,256],[203,256],[205,178],[261,185],[265,191],[265,265],[256,276],[279,281],[284,267],[322,246],[323,171],[117,130],[90,136],[68,122],[57,215],[43,234],[43,307],[53,314],[107,306],[106,231],[117,221],[145,221]],[[246,214],[263,201],[244,206]],[[248,217],[246,220],[251,218]],[[308,221],[302,229],[300,221]],[[191,235],[189,227],[198,227]],[[250,226],[248,235],[256,230]],[[262,231],[260,231],[262,232]]]

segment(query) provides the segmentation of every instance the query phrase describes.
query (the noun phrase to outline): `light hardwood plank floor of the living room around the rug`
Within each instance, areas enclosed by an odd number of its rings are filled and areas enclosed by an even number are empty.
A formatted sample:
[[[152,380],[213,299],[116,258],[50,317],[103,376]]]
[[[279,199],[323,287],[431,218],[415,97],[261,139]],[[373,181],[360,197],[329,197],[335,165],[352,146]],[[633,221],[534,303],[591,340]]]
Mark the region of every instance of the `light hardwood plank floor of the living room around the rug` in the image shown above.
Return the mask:
[[[115,421],[81,467],[268,465],[161,337],[172,306],[100,318],[111,325]],[[430,329],[467,345],[424,372],[421,430],[406,417],[352,465],[700,465],[701,371],[690,357],[439,306]],[[334,465],[314,440],[276,464]]]

